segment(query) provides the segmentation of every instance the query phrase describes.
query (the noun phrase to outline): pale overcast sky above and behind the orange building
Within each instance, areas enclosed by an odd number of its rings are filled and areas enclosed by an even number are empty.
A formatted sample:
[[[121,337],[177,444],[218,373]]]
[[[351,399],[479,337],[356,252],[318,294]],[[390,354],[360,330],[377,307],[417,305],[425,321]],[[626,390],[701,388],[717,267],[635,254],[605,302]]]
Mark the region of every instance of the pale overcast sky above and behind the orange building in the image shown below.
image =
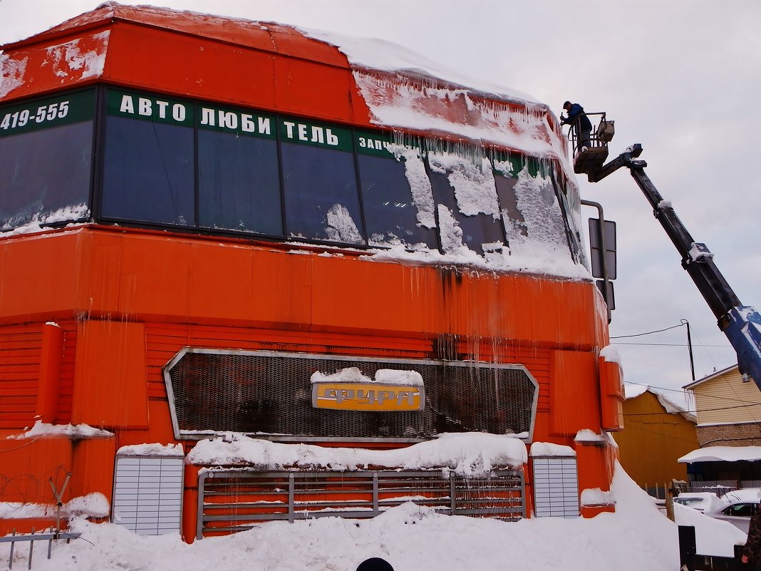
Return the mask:
[[[87,0],[0,0],[0,44],[89,11]],[[745,305],[761,308],[756,172],[761,2],[732,0],[161,0],[175,9],[279,21],[389,40],[448,68],[566,99],[616,121],[615,157],[642,143],[645,172]],[[213,8],[212,8],[213,6]],[[697,378],[737,362],[680,257],[626,170],[579,180],[618,226],[612,336],[689,321]],[[587,212],[587,210],[589,212]],[[584,209],[584,218],[594,215]],[[613,340],[626,381],[676,390],[692,381],[686,328]],[[633,344],[638,343],[638,344]],[[669,393],[667,393],[669,394]]]

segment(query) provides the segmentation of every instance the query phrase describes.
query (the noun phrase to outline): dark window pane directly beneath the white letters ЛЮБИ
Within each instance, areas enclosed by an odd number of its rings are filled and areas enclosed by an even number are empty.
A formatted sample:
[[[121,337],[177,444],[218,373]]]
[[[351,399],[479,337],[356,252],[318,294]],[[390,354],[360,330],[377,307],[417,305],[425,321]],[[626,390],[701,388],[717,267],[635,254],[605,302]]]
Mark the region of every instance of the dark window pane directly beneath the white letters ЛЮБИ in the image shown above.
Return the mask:
[[[282,235],[277,142],[198,132],[199,225]]]

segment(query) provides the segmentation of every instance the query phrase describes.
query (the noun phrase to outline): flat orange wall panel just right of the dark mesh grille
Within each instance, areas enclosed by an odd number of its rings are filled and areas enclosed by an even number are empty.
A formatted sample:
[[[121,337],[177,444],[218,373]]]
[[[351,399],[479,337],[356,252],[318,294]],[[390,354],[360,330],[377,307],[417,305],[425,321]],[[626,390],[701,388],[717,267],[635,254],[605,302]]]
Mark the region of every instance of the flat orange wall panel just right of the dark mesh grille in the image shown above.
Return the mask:
[[[596,364],[591,352],[553,352],[550,383],[553,433],[573,436],[581,429],[600,432]]]

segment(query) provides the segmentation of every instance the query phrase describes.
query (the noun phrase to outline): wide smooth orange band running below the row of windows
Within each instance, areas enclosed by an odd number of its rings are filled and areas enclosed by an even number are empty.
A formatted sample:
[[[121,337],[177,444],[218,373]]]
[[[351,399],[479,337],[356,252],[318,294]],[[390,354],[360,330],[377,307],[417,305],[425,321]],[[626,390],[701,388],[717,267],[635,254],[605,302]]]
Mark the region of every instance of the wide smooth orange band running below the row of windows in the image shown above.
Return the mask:
[[[98,226],[0,239],[0,258],[14,276],[0,290],[0,323],[86,312],[352,331],[385,337],[384,343],[447,333],[584,351],[600,346],[591,282],[456,274],[351,252],[325,257],[284,248]]]

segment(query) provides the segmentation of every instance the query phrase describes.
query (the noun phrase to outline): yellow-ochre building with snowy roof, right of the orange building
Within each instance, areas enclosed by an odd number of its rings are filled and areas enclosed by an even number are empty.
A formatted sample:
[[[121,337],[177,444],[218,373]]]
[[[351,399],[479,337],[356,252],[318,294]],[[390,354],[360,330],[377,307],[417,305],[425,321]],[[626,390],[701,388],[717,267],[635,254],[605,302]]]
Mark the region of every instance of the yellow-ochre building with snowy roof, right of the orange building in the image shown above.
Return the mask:
[[[686,480],[677,459],[698,447],[693,414],[649,387],[627,386],[624,429],[615,435],[626,473],[645,490],[663,490],[671,480]]]

